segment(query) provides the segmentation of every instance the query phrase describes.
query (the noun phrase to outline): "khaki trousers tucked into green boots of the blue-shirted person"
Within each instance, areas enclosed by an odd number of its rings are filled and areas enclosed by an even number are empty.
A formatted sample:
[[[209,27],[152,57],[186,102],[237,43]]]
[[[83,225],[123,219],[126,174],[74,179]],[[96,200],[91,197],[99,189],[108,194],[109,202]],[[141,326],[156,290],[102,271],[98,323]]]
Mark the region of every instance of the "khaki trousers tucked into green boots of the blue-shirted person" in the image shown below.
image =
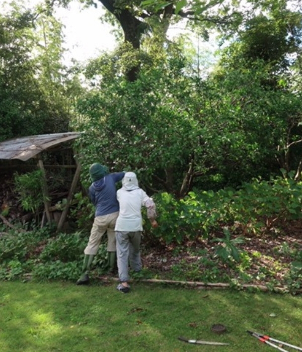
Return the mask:
[[[101,239],[104,233],[107,231],[107,250],[108,252],[115,252],[116,251],[116,240],[115,240],[115,223],[118,217],[118,212],[103,215],[103,216],[96,216],[92,225],[92,229],[90,232],[89,242],[87,247],[84,250],[85,254],[97,254]]]

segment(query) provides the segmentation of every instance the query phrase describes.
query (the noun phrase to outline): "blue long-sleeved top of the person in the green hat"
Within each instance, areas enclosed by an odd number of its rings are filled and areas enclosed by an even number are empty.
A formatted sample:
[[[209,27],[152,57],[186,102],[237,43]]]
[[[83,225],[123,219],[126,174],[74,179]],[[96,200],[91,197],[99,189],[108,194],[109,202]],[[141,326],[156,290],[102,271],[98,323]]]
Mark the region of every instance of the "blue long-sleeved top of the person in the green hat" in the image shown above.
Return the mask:
[[[95,216],[119,211],[116,199],[116,183],[121,181],[125,172],[109,173],[89,187],[89,198],[96,207]]]

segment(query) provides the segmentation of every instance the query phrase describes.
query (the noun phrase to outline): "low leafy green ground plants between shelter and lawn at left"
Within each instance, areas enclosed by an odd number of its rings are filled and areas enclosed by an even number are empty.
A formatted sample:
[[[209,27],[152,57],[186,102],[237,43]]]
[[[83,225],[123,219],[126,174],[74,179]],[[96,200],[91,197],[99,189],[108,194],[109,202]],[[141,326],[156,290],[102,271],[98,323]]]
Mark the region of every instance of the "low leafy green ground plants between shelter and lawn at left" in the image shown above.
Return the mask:
[[[79,276],[87,238],[53,234],[47,228],[25,233],[10,231],[0,237],[0,279],[33,276],[41,280],[74,279]]]

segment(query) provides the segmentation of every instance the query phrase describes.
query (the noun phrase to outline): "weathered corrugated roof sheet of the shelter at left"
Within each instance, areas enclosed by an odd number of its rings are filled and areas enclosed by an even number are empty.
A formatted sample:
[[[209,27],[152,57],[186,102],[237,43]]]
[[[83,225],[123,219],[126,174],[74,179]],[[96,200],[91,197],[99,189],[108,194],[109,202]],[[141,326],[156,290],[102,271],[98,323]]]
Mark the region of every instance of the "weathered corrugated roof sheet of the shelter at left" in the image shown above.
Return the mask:
[[[0,142],[0,159],[26,161],[54,145],[79,137],[81,132],[39,134]]]

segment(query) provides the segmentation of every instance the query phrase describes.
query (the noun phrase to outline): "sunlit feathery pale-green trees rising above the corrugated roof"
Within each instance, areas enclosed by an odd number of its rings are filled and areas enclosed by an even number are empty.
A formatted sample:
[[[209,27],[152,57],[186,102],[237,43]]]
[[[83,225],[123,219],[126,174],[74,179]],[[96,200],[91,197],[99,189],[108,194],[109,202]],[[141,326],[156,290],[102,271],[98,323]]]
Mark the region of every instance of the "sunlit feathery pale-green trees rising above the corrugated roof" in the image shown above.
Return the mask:
[[[67,131],[73,78],[61,63],[61,25],[14,3],[0,23],[0,140]]]

